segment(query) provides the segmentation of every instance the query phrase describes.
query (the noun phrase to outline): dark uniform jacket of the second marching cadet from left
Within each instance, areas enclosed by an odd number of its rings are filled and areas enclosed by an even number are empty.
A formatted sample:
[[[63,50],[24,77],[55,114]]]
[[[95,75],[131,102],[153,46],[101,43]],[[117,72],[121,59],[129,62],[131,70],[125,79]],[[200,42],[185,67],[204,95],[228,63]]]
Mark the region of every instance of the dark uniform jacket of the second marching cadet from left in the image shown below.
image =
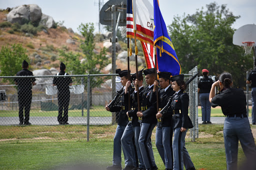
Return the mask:
[[[142,90],[144,90],[144,87],[141,87],[139,89],[139,93]],[[138,117],[137,117],[138,102],[137,102],[137,100],[136,101],[134,100],[134,95],[137,95],[137,93],[131,93],[131,95],[130,95],[130,99],[132,102],[132,107],[131,107],[132,110],[128,111],[129,117],[132,117],[131,126],[133,126],[133,127],[140,126],[140,123],[138,122]]]

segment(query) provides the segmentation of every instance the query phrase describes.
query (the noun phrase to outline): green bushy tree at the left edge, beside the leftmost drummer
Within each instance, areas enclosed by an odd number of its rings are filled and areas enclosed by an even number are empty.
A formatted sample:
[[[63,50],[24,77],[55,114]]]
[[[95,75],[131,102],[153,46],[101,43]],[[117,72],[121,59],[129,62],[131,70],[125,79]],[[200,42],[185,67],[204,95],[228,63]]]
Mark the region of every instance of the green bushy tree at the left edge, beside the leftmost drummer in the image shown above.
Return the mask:
[[[15,76],[22,69],[22,61],[28,61],[26,49],[21,44],[7,44],[0,51],[0,75]]]

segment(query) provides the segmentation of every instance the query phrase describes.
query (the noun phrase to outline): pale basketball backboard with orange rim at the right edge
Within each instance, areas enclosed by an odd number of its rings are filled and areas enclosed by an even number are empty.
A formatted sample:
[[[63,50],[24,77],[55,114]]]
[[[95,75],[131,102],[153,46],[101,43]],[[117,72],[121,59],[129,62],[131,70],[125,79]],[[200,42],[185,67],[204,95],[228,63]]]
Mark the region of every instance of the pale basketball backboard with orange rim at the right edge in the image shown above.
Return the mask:
[[[233,34],[233,44],[246,46],[242,42],[255,42],[256,45],[256,25],[247,24],[239,27]]]

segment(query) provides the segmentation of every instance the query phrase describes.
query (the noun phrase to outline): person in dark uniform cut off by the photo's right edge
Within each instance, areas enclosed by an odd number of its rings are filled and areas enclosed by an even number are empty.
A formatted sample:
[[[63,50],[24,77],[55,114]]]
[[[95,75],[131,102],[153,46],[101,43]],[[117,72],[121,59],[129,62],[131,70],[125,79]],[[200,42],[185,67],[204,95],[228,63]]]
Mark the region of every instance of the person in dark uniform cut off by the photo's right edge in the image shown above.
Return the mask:
[[[254,61],[254,65],[256,66],[256,60]],[[252,125],[256,125],[256,69],[250,71],[246,83],[251,83],[251,119]]]

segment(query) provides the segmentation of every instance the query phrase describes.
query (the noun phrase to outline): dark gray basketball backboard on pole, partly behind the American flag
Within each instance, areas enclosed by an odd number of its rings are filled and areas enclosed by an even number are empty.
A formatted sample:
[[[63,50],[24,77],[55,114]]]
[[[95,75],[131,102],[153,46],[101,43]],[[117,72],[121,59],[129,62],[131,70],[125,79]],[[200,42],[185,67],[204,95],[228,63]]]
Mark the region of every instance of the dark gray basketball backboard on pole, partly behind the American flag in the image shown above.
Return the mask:
[[[121,5],[123,3],[123,5]],[[99,22],[102,25],[111,25],[111,11],[107,10],[112,5],[116,7],[126,8],[127,0],[108,0],[100,9],[99,12]],[[105,11],[107,10],[107,11]],[[116,12],[116,19],[118,17],[119,12]],[[121,18],[119,21],[119,26],[126,26],[126,9],[121,13]]]

